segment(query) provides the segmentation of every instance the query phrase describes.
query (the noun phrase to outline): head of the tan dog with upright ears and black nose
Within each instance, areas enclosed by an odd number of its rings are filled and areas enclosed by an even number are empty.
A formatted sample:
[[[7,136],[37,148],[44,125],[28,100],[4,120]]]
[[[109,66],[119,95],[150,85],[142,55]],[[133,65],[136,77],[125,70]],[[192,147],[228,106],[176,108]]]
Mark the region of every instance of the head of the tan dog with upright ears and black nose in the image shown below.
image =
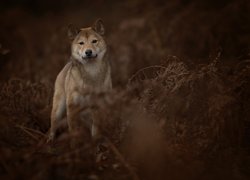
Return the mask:
[[[83,64],[101,61],[107,50],[104,33],[104,25],[100,19],[92,27],[76,29],[70,25],[68,35],[72,41],[72,57]]]

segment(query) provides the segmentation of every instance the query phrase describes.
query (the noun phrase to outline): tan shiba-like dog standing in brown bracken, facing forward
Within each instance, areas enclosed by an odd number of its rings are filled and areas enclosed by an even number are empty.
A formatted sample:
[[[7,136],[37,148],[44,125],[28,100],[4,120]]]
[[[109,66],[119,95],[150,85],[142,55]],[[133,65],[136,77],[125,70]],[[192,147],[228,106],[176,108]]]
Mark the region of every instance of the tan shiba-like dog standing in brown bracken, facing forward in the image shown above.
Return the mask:
[[[48,141],[54,140],[57,126],[65,116],[69,132],[77,129],[74,108],[86,105],[86,94],[112,89],[104,33],[104,25],[100,19],[92,27],[76,29],[69,26],[71,57],[55,81]],[[95,119],[92,119],[90,131],[93,137],[98,135]]]

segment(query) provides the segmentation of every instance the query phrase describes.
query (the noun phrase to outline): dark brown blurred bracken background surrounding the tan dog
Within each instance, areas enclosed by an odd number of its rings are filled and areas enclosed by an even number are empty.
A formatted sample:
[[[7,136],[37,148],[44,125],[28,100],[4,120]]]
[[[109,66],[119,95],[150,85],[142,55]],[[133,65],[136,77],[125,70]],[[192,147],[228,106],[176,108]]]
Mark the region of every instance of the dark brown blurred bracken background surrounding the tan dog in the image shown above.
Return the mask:
[[[114,86],[93,100],[113,145],[101,162],[90,139],[46,143],[67,26],[98,18]],[[0,23],[0,177],[250,177],[248,0],[1,1]]]

